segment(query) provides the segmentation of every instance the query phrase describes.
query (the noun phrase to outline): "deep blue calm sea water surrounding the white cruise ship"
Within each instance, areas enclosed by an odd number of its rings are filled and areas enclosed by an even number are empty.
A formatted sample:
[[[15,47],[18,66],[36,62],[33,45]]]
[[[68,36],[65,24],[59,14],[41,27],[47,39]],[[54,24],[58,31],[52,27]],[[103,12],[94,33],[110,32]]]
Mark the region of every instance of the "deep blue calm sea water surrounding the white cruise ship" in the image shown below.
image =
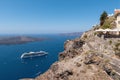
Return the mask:
[[[61,35],[30,35],[49,38],[40,42],[19,45],[0,45],[0,80],[18,80],[34,78],[49,69],[58,60],[59,52],[63,51],[64,42],[79,36]],[[24,52],[46,51],[49,54],[32,59],[20,59]]]

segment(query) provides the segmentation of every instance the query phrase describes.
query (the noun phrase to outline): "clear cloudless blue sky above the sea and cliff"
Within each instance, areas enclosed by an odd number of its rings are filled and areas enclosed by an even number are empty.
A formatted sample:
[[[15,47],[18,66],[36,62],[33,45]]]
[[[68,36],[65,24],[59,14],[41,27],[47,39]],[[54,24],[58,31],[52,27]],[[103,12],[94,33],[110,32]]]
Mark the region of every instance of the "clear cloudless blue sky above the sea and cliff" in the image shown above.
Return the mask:
[[[120,0],[0,0],[0,34],[83,32]]]

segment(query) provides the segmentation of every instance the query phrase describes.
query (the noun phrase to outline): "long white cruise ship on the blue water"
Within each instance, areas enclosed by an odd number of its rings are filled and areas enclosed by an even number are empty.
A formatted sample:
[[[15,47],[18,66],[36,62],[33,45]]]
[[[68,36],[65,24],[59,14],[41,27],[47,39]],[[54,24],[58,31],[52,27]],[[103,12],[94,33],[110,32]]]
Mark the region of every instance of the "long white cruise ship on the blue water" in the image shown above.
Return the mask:
[[[21,59],[24,58],[32,58],[32,57],[37,57],[37,56],[43,56],[43,55],[47,55],[48,53],[45,51],[38,51],[38,52],[29,52],[29,53],[23,53],[21,55]]]

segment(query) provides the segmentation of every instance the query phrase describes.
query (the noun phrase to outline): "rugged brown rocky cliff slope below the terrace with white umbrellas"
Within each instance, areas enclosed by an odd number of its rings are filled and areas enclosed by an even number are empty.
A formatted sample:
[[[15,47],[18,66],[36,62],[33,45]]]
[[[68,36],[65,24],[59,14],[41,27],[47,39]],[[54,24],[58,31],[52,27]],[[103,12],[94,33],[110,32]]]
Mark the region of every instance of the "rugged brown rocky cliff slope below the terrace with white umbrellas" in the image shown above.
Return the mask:
[[[35,80],[120,80],[119,44],[120,38],[104,39],[92,29],[66,41],[59,61]]]

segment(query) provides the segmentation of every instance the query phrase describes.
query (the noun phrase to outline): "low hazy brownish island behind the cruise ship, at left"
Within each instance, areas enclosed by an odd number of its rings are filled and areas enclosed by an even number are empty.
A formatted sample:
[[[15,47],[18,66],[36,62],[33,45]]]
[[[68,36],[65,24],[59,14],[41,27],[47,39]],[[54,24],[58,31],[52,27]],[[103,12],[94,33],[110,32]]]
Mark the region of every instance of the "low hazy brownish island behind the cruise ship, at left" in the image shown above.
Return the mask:
[[[28,37],[28,36],[12,36],[12,37],[1,37],[0,38],[0,45],[12,45],[12,44],[24,44],[28,42],[34,41],[43,41],[44,38],[35,38],[35,37]]]

